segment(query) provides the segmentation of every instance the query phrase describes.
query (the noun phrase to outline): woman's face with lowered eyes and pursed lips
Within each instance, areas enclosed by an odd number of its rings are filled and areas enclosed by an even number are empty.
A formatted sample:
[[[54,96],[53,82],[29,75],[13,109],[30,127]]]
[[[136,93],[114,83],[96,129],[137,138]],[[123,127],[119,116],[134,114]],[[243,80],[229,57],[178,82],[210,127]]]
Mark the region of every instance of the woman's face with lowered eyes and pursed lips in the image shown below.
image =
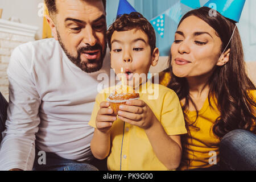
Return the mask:
[[[197,16],[181,22],[171,47],[172,71],[177,77],[210,76],[221,55],[221,39]]]

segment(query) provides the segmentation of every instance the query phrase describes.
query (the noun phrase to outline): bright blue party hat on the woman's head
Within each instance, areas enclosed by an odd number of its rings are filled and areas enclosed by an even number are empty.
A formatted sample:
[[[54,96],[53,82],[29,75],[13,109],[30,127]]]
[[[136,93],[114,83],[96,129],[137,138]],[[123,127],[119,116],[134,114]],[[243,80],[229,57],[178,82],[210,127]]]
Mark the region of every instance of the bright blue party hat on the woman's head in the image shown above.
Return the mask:
[[[204,6],[210,7],[222,16],[239,22],[245,0],[210,0]]]

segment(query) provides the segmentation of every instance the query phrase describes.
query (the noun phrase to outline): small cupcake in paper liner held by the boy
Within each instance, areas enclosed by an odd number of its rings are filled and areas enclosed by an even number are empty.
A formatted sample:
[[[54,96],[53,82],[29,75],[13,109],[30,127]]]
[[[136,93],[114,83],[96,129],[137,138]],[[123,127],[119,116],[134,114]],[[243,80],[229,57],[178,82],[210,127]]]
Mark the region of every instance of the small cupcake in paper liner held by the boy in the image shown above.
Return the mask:
[[[139,99],[139,93],[135,93],[135,90],[129,86],[118,86],[114,89],[113,93],[107,98],[110,102],[110,107],[114,110],[114,114],[117,115],[120,105],[125,105],[125,102]]]

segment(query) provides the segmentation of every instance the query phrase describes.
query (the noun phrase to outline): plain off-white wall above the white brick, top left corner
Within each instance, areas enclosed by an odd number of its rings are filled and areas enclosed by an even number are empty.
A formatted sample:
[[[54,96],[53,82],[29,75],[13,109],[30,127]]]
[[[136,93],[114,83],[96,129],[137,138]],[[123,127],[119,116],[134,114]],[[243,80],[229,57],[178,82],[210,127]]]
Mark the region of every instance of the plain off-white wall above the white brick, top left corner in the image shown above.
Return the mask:
[[[41,39],[43,17],[38,15],[42,10],[38,6],[43,2],[44,0],[0,0],[0,9],[3,9],[2,19],[8,20],[14,16],[19,18],[20,23],[39,27],[35,39]]]

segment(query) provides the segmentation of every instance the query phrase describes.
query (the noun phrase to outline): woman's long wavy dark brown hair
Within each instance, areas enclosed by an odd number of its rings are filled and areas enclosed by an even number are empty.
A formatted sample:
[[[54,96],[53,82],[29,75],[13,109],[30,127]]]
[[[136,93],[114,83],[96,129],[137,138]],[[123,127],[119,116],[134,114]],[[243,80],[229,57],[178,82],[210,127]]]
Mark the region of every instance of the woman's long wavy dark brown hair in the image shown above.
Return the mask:
[[[217,100],[220,117],[216,119],[212,127],[213,133],[220,139],[229,131],[236,129],[251,130],[256,121],[255,117],[255,98],[249,94],[249,90],[255,90],[255,85],[246,73],[245,61],[243,59],[243,49],[240,34],[236,28],[235,22],[225,18],[217,12],[217,16],[209,16],[209,8],[201,7],[200,9],[189,11],[180,20],[183,22],[188,16],[197,16],[204,20],[212,27],[222,41],[221,52],[230,48],[229,61],[222,67],[216,66],[212,76],[209,78],[208,100],[215,97]],[[180,25],[179,23],[179,25]],[[236,30],[234,31],[234,28]],[[233,38],[230,43],[229,40]],[[229,43],[229,44],[228,44]],[[228,46],[226,48],[226,46]],[[225,49],[226,48],[226,49]],[[224,50],[225,49],[225,50]],[[187,125],[192,126],[196,121],[188,121],[185,111],[188,110],[189,102],[195,107],[198,117],[198,109],[189,95],[189,86],[186,78],[176,77],[172,72],[171,53],[169,57],[171,81],[169,88],[177,93],[180,100],[185,99],[183,113]],[[254,108],[253,108],[254,107]],[[253,129],[255,133],[256,127]],[[189,134],[188,134],[189,135]],[[187,136],[189,137],[189,136]]]

